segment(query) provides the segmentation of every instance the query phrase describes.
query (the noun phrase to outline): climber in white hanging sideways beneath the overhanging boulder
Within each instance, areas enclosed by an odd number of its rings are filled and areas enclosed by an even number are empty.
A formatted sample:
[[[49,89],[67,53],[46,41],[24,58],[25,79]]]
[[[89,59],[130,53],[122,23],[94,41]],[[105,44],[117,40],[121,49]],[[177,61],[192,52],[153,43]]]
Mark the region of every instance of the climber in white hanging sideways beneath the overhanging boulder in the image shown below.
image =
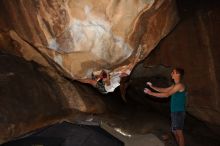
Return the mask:
[[[141,51],[142,47],[140,46],[133,62],[128,65],[116,68],[112,72],[105,69],[96,71],[92,73],[92,78],[79,79],[78,81],[91,84],[103,94],[114,92],[114,90],[120,86],[122,99],[126,101],[125,94],[129,83],[127,77],[130,75],[134,66],[140,61]]]

